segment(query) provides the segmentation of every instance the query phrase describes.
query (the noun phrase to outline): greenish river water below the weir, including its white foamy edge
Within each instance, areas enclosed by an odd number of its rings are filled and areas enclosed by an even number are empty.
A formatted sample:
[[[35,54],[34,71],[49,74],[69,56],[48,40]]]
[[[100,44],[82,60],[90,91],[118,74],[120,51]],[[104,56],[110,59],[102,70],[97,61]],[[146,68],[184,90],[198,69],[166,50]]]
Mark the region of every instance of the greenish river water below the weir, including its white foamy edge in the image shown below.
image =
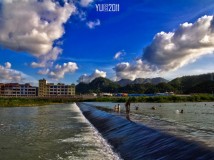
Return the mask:
[[[0,108],[1,160],[117,160],[76,104]]]

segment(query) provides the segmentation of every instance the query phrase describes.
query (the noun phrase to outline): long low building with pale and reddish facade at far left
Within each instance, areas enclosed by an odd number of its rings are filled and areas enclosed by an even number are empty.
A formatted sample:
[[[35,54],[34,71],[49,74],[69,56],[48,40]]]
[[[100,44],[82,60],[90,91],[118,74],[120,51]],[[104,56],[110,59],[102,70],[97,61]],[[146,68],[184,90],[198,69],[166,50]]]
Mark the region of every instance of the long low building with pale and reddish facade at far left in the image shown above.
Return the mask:
[[[8,97],[35,97],[38,94],[38,88],[31,86],[29,83],[1,83],[0,96]]]

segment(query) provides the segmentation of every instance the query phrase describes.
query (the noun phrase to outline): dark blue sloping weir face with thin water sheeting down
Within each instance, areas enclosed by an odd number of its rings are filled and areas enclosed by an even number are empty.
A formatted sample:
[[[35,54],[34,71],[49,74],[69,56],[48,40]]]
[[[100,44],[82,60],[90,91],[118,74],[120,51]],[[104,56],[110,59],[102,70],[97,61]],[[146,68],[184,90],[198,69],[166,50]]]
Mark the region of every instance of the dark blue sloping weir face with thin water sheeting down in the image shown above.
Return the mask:
[[[77,105],[124,160],[214,159],[214,151],[199,144],[161,133],[85,103]]]

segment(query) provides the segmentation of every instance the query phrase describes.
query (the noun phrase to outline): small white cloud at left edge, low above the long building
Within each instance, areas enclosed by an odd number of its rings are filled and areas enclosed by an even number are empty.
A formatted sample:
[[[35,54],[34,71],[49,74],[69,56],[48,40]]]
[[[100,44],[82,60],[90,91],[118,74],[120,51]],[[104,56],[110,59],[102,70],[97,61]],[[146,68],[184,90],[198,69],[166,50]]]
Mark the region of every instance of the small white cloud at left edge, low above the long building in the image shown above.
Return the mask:
[[[1,82],[22,82],[25,80],[24,74],[11,69],[11,63],[6,62],[4,66],[0,65],[0,81]]]

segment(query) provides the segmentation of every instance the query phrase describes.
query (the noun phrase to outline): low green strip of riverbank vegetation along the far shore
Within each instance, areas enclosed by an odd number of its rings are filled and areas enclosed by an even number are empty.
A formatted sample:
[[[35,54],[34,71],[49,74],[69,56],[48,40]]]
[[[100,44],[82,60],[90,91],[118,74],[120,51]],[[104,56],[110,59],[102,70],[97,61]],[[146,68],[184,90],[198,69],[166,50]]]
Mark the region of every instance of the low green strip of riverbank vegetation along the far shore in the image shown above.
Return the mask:
[[[143,96],[143,97],[93,97],[93,98],[22,98],[22,97],[0,97],[0,107],[19,106],[43,106],[48,104],[72,103],[72,102],[126,102],[132,103],[173,103],[173,102],[213,102],[212,94],[198,94],[191,96]]]

